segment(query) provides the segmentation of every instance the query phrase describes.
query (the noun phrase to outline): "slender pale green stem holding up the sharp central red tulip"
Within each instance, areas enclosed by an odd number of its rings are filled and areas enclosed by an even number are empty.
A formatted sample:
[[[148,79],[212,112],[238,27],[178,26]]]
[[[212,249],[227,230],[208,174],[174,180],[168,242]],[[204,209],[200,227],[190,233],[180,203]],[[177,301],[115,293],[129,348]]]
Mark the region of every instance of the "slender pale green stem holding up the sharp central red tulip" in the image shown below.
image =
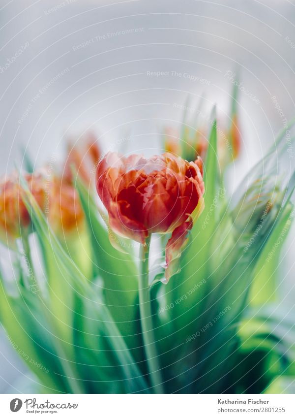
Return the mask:
[[[139,303],[142,333],[145,345],[145,352],[148,361],[150,382],[155,393],[164,393],[158,354],[155,346],[154,332],[152,325],[152,314],[150,306],[150,295],[148,285],[148,255],[150,237],[145,246],[140,249],[140,276],[139,276]]]

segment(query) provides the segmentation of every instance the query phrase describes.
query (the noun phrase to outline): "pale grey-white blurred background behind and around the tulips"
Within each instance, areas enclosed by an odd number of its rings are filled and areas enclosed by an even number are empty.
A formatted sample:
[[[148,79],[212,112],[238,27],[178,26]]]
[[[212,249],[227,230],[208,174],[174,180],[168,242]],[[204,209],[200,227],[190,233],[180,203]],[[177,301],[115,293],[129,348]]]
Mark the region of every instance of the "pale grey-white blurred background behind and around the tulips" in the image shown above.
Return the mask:
[[[235,189],[295,116],[289,0],[1,0],[0,34],[3,176],[26,149],[36,167],[59,161],[64,137],[87,130],[104,151],[161,152],[163,127],[179,128],[188,97],[196,109],[204,96],[208,115],[216,103],[228,123],[236,74],[242,151],[227,173]],[[294,230],[278,284],[290,308]],[[26,392],[29,372],[0,334],[0,392]]]

